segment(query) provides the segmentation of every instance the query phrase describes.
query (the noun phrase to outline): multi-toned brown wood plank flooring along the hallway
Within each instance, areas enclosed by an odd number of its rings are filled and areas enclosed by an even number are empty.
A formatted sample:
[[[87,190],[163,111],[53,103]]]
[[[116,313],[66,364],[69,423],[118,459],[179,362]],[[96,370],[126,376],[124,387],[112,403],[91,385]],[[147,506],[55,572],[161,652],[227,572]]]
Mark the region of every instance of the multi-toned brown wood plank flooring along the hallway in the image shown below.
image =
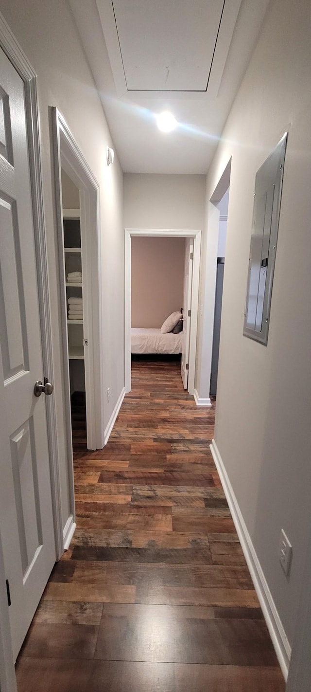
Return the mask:
[[[284,692],[180,365],[133,363],[109,443],[73,440],[77,530],[17,662],[19,692]]]

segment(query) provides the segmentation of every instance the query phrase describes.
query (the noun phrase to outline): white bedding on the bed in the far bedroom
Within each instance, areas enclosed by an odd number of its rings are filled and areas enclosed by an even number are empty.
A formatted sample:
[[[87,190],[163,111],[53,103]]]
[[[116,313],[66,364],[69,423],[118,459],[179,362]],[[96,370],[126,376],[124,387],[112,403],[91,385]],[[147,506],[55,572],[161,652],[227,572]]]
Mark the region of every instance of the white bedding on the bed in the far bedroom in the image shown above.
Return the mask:
[[[180,334],[161,334],[160,329],[131,328],[132,353],[178,354],[182,350],[182,331]]]

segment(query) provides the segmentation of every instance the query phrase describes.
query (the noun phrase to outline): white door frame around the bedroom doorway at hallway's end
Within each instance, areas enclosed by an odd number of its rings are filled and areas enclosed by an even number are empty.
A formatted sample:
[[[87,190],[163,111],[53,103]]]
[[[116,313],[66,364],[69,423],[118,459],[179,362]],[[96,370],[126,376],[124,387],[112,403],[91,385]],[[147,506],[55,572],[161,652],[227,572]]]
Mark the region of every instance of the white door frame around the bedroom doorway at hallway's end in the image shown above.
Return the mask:
[[[124,230],[124,257],[125,257],[125,389],[131,391],[131,239],[133,236],[166,237],[166,238],[193,238],[194,239],[194,265],[192,274],[192,298],[191,298],[191,328],[189,346],[189,375],[188,392],[194,394],[194,377],[196,374],[196,340],[198,329],[198,295],[200,275],[200,248],[201,231],[185,230],[178,228],[125,228]]]

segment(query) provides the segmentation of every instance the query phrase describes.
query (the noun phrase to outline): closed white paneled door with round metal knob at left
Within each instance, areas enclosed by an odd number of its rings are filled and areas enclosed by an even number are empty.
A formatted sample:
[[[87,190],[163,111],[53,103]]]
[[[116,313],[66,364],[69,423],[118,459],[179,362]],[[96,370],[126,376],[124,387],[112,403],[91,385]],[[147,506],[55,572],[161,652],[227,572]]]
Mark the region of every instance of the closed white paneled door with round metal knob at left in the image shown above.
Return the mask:
[[[0,527],[15,658],[55,563],[23,82],[0,50]]]

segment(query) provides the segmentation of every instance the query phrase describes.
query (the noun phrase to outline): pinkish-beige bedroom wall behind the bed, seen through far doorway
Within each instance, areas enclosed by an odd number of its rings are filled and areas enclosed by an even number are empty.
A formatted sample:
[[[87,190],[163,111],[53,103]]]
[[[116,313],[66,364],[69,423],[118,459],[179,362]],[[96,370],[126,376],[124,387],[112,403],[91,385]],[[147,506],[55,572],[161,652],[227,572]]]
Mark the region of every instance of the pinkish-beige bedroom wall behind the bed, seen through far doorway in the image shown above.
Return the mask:
[[[131,326],[161,327],[184,300],[185,238],[133,237]]]

